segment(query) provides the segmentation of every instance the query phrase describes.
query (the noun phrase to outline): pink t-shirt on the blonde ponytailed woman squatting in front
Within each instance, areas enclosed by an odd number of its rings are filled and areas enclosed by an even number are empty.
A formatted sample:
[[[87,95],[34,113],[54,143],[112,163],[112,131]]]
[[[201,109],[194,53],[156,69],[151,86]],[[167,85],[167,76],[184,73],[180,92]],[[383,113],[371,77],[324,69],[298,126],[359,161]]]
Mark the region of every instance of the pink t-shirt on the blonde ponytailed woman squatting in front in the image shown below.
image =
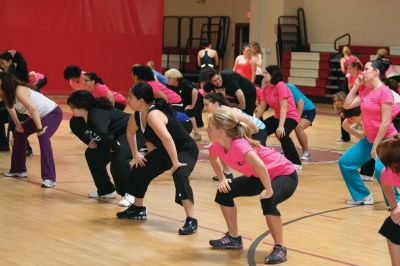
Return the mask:
[[[290,175],[295,171],[293,164],[276,150],[264,146],[253,147],[246,139],[232,140],[227,152],[220,143],[213,142],[208,151],[211,156],[219,157],[227,166],[245,176],[256,176],[256,171],[244,158],[249,151],[255,151],[264,162],[271,180],[278,176]]]

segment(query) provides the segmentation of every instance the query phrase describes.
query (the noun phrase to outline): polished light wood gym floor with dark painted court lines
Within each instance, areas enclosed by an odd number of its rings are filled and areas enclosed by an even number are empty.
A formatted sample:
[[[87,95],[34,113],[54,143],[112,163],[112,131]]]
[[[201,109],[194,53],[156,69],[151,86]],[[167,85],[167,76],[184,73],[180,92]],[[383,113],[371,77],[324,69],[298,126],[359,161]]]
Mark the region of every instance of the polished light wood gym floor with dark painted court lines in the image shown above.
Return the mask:
[[[344,204],[349,194],[337,159],[351,144],[335,141],[339,118],[330,106],[318,106],[316,121],[306,132],[312,161],[300,172],[294,196],[279,206],[288,248],[283,265],[390,265],[386,241],[377,232],[388,215],[377,183],[367,183],[378,202],[374,206]],[[202,135],[200,147],[207,144],[204,129]],[[30,141],[29,177],[0,177],[0,265],[262,265],[272,247],[258,198],[252,197],[236,201],[244,250],[209,248],[208,241],[227,229],[213,201],[217,183],[211,180],[206,150],[191,176],[200,227],[197,234],[179,236],[185,217],[174,203],[170,173],[150,185],[147,221],[118,220],[119,199],[87,198],[95,186],[85,146],[70,134],[68,120],[52,139],[56,188],[40,188],[38,142],[35,136]],[[274,137],[267,142],[277,145]],[[9,162],[10,153],[0,153],[1,172]]]

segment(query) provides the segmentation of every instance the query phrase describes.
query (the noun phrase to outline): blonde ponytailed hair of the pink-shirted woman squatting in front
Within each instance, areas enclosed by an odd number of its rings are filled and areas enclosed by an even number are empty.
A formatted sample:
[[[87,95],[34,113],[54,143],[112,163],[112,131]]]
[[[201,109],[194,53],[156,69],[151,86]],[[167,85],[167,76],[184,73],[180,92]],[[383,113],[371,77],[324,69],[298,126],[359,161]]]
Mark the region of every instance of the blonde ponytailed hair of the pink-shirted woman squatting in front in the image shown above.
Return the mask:
[[[254,147],[259,147],[260,143],[251,138],[251,131],[247,124],[240,122],[235,115],[225,109],[218,108],[208,116],[208,124],[216,129],[223,129],[226,135],[232,139],[245,138]]]

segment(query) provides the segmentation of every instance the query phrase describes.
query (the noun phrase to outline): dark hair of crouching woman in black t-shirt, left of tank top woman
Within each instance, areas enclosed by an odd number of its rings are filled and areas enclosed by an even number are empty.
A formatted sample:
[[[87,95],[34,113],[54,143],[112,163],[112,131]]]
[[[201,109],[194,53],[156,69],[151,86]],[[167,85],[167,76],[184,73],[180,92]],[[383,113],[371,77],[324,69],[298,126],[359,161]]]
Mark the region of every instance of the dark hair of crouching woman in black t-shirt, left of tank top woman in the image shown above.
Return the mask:
[[[113,105],[106,97],[94,98],[87,90],[74,91],[67,100],[67,104],[78,109],[89,111],[92,108],[100,108],[105,110],[113,109]]]

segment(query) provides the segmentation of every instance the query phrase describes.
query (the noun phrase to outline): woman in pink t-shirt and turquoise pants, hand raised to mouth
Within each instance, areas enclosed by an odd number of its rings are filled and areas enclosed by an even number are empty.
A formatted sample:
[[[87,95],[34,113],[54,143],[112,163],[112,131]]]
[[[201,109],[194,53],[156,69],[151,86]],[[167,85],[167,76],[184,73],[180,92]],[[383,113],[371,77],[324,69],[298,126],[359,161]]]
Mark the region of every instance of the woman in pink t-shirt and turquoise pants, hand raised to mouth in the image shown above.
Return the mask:
[[[392,113],[398,113],[399,105],[394,104],[391,90],[383,84],[387,65],[382,60],[365,64],[362,75],[358,76],[346,97],[346,109],[360,106],[365,137],[350,147],[339,159],[339,167],[352,199],[350,205],[372,205],[371,192],[361,180],[357,169],[375,159],[375,177],[380,183],[382,162],[376,158],[376,147],[385,138],[393,137],[397,130],[392,122]]]

